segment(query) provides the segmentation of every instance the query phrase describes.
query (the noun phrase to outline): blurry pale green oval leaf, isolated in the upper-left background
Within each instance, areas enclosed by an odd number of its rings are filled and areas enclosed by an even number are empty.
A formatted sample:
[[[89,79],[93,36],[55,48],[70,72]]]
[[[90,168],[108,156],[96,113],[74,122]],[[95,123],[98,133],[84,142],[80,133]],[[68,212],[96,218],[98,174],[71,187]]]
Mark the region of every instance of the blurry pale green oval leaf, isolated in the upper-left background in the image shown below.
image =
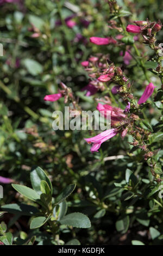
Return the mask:
[[[31,75],[39,75],[43,71],[42,65],[34,59],[26,58],[22,63]]]

